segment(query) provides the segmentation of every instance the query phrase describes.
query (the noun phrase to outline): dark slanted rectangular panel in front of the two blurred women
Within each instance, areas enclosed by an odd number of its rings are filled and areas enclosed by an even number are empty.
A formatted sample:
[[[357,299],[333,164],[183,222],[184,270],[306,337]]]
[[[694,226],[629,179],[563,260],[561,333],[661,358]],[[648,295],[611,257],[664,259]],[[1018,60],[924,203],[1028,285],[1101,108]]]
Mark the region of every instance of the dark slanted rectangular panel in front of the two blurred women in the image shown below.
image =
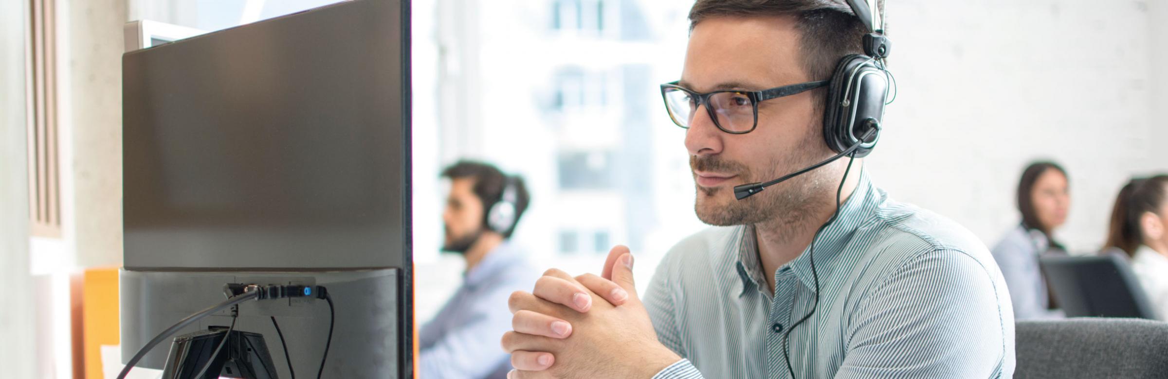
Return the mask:
[[[1124,257],[1044,257],[1040,264],[1068,317],[1156,318]]]

